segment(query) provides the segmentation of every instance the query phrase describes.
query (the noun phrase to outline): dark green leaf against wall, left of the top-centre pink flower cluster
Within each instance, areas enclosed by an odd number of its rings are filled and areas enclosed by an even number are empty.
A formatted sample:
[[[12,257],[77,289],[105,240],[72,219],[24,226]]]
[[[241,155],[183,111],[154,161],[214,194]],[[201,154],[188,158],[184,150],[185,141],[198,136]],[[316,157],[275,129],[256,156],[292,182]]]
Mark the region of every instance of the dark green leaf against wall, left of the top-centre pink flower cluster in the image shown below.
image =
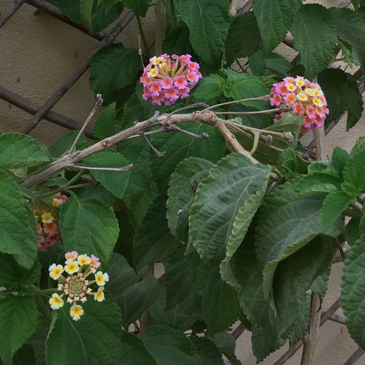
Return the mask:
[[[130,84],[138,70],[138,51],[112,43],[96,52],[90,60],[90,87],[102,95],[106,105],[115,100],[115,94]]]

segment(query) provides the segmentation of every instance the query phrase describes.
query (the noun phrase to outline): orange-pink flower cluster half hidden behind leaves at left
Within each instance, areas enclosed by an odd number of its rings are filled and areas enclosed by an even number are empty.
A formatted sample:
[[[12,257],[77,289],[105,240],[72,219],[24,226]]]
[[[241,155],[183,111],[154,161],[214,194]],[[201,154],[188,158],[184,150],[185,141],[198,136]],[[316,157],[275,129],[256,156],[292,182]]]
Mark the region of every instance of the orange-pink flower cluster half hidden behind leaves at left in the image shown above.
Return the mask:
[[[57,193],[52,196],[52,199],[53,207],[59,208],[68,198],[66,195]],[[55,246],[61,238],[55,210],[53,208],[40,208],[35,204],[33,213],[37,219],[38,250],[46,251],[48,247]]]

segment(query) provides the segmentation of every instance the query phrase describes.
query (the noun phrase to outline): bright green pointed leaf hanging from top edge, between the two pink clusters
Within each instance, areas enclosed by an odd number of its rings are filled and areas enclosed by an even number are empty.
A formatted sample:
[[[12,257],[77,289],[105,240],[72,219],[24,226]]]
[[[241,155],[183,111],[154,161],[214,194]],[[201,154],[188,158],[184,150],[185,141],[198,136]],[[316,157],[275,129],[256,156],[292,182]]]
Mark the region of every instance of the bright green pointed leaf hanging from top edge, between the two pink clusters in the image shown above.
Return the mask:
[[[271,52],[286,36],[299,5],[299,0],[252,2],[265,52]]]

